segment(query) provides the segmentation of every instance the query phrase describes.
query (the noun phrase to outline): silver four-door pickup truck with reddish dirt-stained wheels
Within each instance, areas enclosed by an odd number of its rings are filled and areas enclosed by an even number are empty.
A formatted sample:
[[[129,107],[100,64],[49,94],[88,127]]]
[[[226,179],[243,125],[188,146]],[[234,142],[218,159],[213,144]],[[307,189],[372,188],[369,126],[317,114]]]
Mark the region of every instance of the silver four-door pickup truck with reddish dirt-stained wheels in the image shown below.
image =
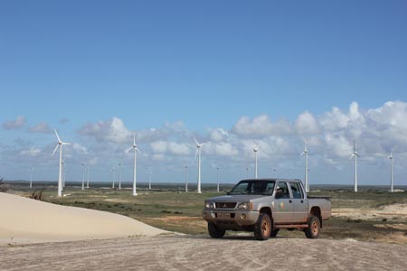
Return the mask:
[[[301,229],[307,238],[318,238],[330,216],[328,197],[308,196],[301,181],[287,179],[242,180],[227,195],[205,200],[203,210],[212,238],[235,230],[267,240],[279,229]]]

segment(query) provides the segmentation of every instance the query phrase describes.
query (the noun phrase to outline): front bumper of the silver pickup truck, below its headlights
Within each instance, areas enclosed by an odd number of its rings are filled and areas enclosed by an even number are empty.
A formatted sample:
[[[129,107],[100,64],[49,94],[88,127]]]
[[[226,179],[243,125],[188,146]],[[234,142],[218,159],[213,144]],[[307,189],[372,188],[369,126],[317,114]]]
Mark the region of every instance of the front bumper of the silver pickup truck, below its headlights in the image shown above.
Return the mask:
[[[259,219],[256,210],[207,210],[202,211],[204,220],[215,224],[235,224],[237,226],[251,226]]]

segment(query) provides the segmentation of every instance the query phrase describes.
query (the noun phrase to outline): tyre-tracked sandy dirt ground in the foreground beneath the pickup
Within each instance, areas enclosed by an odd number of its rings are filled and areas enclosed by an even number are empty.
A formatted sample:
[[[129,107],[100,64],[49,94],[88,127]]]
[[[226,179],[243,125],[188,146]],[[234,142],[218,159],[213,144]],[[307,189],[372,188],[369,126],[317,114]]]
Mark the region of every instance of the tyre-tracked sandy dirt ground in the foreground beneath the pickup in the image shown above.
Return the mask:
[[[0,270],[407,270],[407,246],[307,238],[117,238],[0,246]]]

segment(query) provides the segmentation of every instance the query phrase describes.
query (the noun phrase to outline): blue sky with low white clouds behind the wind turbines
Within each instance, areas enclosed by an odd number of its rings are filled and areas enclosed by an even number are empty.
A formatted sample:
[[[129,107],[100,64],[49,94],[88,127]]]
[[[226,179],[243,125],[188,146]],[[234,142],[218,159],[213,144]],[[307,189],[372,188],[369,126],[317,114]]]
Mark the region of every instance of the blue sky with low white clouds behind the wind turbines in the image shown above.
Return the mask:
[[[405,1],[1,1],[0,175],[407,185],[406,75]]]

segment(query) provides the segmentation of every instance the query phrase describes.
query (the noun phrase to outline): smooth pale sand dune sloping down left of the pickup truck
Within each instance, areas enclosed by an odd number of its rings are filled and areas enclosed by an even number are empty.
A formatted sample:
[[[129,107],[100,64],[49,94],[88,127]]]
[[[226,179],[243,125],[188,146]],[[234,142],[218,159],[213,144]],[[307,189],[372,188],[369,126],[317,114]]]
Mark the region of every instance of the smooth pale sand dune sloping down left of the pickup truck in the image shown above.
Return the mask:
[[[155,236],[166,233],[114,213],[34,201],[0,192],[0,243]]]

